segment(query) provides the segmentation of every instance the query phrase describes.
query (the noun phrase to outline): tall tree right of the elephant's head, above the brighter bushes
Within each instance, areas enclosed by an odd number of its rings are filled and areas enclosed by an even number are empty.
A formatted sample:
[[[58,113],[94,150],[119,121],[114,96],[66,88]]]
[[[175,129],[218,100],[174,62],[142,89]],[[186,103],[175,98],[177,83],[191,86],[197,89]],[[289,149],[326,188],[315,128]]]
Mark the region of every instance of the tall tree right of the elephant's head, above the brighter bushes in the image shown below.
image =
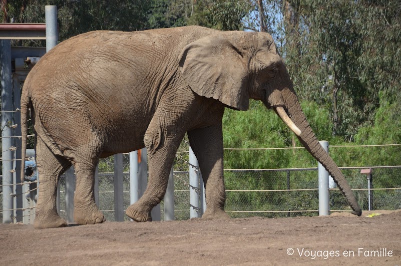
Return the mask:
[[[399,102],[398,1],[290,1],[299,17],[286,62],[301,98],[331,109],[333,134],[353,140],[372,124],[378,93]],[[380,40],[378,42],[378,40]],[[292,48],[294,49],[294,48]],[[291,50],[288,48],[288,50]],[[300,56],[299,56],[300,55]]]

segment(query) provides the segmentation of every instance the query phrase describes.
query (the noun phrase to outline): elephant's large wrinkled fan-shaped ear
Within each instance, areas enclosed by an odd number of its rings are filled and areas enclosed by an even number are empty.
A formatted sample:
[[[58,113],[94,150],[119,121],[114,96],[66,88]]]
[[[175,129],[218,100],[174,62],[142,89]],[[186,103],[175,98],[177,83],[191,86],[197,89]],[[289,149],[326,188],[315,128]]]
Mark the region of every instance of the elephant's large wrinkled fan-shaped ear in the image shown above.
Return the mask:
[[[187,45],[179,65],[196,94],[248,110],[248,72],[241,52],[228,38],[208,36]]]

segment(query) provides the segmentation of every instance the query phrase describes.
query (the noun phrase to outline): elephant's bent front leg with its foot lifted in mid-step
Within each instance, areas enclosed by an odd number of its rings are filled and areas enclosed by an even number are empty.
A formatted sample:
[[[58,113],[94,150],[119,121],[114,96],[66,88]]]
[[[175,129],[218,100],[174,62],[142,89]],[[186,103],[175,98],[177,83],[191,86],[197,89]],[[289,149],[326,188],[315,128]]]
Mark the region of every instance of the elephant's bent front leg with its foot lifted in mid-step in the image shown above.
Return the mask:
[[[166,112],[156,111],[145,133],[144,143],[148,150],[149,165],[148,186],[143,196],[126,210],[126,214],[138,222],[152,220],[150,212],[166,193],[170,169],[185,135],[184,127],[177,125],[177,120],[163,115]]]

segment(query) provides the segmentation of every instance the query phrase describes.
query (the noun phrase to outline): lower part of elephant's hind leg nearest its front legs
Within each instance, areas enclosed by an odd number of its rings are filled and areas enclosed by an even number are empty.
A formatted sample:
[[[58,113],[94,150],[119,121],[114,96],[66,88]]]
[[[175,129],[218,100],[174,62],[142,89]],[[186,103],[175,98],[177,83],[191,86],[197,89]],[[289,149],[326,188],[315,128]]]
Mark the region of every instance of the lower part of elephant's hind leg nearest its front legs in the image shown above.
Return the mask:
[[[74,164],[77,181],[74,195],[74,220],[79,224],[104,222],[105,216],[95,202],[95,162],[79,161]]]

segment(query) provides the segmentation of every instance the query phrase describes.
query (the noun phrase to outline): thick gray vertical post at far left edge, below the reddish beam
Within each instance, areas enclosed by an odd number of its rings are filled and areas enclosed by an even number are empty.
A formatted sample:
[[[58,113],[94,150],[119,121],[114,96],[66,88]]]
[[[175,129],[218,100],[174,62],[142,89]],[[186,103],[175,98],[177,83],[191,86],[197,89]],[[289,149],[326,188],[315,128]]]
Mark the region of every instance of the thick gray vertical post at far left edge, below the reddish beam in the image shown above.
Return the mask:
[[[8,123],[13,122],[12,85],[11,85],[11,42],[0,40],[0,83],[2,87],[2,158],[3,158],[3,223],[13,222],[13,152],[12,129]]]

